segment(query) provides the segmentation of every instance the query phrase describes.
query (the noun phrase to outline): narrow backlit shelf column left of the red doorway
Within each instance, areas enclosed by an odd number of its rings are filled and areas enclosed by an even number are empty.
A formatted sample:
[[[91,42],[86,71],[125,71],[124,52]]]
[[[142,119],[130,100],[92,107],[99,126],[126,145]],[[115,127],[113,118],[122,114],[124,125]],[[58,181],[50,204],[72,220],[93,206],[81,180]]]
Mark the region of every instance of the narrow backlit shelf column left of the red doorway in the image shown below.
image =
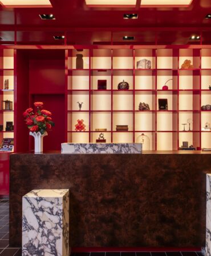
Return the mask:
[[[5,81],[7,86],[5,87]],[[8,86],[9,85],[9,86]],[[2,101],[12,101],[13,107],[5,110],[2,108]],[[14,50],[0,50],[0,143],[3,138],[14,138],[14,130],[6,131],[7,122],[14,124]]]

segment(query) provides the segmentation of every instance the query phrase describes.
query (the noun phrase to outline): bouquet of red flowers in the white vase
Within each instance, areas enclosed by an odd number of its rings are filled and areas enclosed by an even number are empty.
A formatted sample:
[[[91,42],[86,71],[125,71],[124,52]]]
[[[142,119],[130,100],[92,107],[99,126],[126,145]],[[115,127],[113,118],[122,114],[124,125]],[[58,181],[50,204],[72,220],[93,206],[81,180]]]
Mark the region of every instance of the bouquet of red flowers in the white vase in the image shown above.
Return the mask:
[[[49,131],[51,127],[54,126],[51,112],[42,109],[42,102],[35,102],[34,105],[36,107],[35,113],[33,112],[33,108],[27,108],[26,111],[23,112],[23,117],[31,132],[40,132],[41,134],[44,134],[44,132]]]

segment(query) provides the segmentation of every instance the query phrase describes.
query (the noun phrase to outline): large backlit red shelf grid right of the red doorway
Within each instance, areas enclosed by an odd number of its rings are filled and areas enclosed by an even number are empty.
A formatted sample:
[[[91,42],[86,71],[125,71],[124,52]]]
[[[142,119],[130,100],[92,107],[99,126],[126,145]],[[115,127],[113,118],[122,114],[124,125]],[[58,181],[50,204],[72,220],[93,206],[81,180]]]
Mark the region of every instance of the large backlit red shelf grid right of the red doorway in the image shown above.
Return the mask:
[[[132,143],[148,137],[149,150],[177,150],[182,141],[201,149],[211,147],[211,49],[76,49],[67,50],[67,140],[95,142],[103,132],[107,142]],[[76,54],[83,54],[83,69],[76,69]],[[151,68],[139,69],[140,60],[151,61]],[[193,65],[181,69],[185,60]],[[98,80],[107,81],[107,89],[98,89]],[[121,81],[128,90],[118,90]],[[165,82],[168,90],[163,90]],[[168,110],[159,108],[159,99],[167,99]],[[79,111],[78,102],[83,102]],[[149,111],[139,111],[139,104]],[[84,120],[86,131],[76,132],[77,120]],[[187,120],[192,120],[189,124]],[[184,125],[185,131],[184,131]],[[128,131],[116,131],[116,125],[128,125]]]

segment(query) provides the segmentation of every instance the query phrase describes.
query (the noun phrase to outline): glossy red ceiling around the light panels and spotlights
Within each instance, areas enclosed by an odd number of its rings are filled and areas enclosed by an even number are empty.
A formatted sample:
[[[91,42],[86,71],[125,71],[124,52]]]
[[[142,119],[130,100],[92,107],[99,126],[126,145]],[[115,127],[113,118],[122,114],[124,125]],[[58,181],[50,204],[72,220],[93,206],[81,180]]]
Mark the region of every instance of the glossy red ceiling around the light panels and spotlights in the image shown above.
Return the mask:
[[[52,8],[0,7],[2,44],[63,44],[52,36],[67,31],[68,44],[122,43],[122,37],[135,36],[135,44],[188,44],[191,33],[203,34],[210,44],[210,0],[193,0],[187,8],[90,8],[85,0],[50,0]],[[137,0],[140,2],[140,0]],[[54,13],[56,19],[43,21],[39,14]],[[124,13],[138,13],[138,19],[123,19]],[[197,44],[199,42],[196,42]],[[124,42],[125,44],[125,42]],[[131,42],[129,42],[131,44]]]

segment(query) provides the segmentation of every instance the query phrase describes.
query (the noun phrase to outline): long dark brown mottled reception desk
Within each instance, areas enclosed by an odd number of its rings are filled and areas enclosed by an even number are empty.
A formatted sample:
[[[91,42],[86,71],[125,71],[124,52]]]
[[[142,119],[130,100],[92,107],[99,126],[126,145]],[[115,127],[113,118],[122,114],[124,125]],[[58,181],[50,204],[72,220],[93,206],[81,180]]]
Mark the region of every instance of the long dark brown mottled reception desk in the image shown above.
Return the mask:
[[[71,247],[205,246],[209,152],[10,156],[10,246],[21,246],[22,196],[70,189]]]

